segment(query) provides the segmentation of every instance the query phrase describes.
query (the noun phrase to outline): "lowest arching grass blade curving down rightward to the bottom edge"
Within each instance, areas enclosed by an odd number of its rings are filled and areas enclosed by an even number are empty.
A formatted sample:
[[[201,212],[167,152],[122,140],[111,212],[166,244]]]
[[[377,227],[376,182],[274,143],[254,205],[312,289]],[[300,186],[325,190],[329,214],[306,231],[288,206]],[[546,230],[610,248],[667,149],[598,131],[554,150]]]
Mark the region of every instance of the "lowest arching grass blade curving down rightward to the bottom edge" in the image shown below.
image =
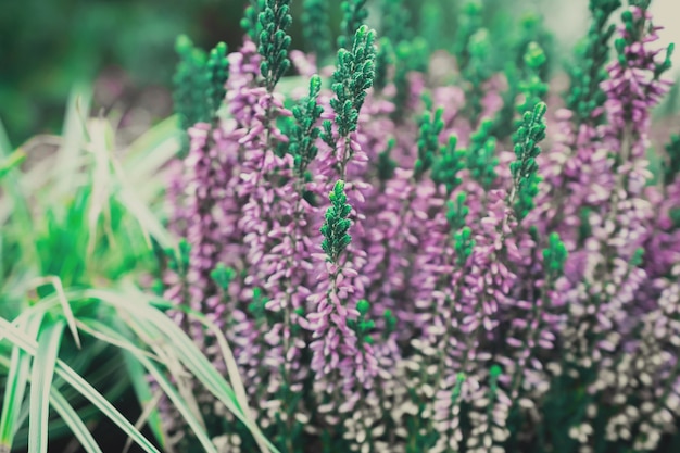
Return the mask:
[[[123,348],[127,352],[129,352],[135,357],[135,360],[138,361],[147,369],[147,372],[153,377],[159,387],[161,387],[163,392],[169,398],[171,402],[175,405],[179,414],[184,417],[193,433],[197,436],[197,439],[201,442],[201,445],[203,445],[203,449],[205,449],[205,452],[217,453],[215,446],[213,445],[213,442],[207,436],[207,432],[205,432],[205,428],[202,426],[202,423],[197,419],[192,411],[179,395],[179,392],[164,376],[161,369],[156,365],[154,365],[151,360],[149,360],[146,351],[142,351],[139,348],[135,347],[131,342],[129,342],[129,340],[122,337],[115,330],[113,330],[111,327],[106,326],[103,323],[88,319],[87,324],[89,326],[84,326],[84,331],[87,331],[90,335],[96,335],[98,339],[111,342],[112,344]]]

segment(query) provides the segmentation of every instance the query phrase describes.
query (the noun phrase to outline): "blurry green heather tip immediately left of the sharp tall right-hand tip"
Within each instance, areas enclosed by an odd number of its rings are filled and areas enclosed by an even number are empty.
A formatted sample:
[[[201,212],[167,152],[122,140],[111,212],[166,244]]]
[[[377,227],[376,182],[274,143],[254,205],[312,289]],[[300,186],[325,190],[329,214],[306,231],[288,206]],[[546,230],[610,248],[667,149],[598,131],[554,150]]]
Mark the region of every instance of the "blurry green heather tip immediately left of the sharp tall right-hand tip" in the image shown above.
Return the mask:
[[[474,180],[484,190],[490,190],[496,178],[495,167],[499,159],[495,155],[496,140],[492,136],[494,123],[484,119],[479,128],[470,136],[470,144],[466,151],[466,166]]]

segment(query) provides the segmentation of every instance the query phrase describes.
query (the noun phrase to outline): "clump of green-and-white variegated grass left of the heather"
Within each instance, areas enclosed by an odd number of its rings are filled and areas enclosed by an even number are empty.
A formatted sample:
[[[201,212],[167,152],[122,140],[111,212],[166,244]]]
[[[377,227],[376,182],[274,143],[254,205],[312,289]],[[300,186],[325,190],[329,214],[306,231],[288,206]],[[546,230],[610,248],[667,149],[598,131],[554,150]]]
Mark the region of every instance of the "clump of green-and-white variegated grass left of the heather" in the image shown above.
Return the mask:
[[[16,168],[0,181],[3,201],[11,198],[15,207],[1,227],[0,376],[5,402],[0,450],[47,451],[47,441],[61,431],[73,433],[84,451],[101,452],[88,427],[104,417],[139,451],[158,452],[164,443],[158,412],[148,407],[146,415],[156,444],[111,403],[134,389],[142,405],[152,404],[152,376],[156,391],[186,423],[187,433],[214,453],[201,416],[189,408],[196,405],[193,395],[180,388],[192,376],[252,430],[259,444],[276,451],[247,415],[238,376],[230,373],[225,379],[162,312],[178,307],[136,289],[140,275],[158,273],[160,250],[168,250],[178,269],[188,264],[188,244],[177,250],[149,207],[163,193],[158,175],[178,151],[174,118],[116,150],[121,154],[114,162],[111,122],[99,117],[84,123],[85,99],[74,96],[68,109],[68,146],[45,155],[42,165],[28,166],[21,174],[22,190],[8,190]],[[24,209],[27,203],[29,210]],[[95,289],[99,285],[109,289]],[[216,330],[203,315],[192,316]],[[236,366],[232,358],[225,361]],[[28,429],[20,429],[26,416]]]

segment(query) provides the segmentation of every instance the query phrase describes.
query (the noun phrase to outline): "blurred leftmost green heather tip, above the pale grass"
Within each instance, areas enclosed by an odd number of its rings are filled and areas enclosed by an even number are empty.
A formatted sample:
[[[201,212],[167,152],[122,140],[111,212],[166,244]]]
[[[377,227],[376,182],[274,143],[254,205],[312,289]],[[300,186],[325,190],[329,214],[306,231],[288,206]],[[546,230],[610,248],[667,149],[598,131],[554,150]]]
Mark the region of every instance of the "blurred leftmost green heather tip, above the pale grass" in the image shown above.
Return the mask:
[[[185,35],[177,38],[175,50],[179,55],[179,63],[173,77],[173,101],[179,126],[186,130],[197,123],[210,119],[205,100],[206,55]]]

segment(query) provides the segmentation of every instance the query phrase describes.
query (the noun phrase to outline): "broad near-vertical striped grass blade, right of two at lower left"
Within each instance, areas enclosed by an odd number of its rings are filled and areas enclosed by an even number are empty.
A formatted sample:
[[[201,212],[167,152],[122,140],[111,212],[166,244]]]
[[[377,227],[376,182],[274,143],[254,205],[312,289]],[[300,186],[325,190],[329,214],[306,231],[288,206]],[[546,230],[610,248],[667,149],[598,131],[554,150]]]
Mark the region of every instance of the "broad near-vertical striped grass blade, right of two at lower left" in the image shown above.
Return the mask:
[[[56,322],[42,329],[38,337],[38,353],[30,373],[28,453],[47,453],[50,388],[65,327],[66,323]]]

